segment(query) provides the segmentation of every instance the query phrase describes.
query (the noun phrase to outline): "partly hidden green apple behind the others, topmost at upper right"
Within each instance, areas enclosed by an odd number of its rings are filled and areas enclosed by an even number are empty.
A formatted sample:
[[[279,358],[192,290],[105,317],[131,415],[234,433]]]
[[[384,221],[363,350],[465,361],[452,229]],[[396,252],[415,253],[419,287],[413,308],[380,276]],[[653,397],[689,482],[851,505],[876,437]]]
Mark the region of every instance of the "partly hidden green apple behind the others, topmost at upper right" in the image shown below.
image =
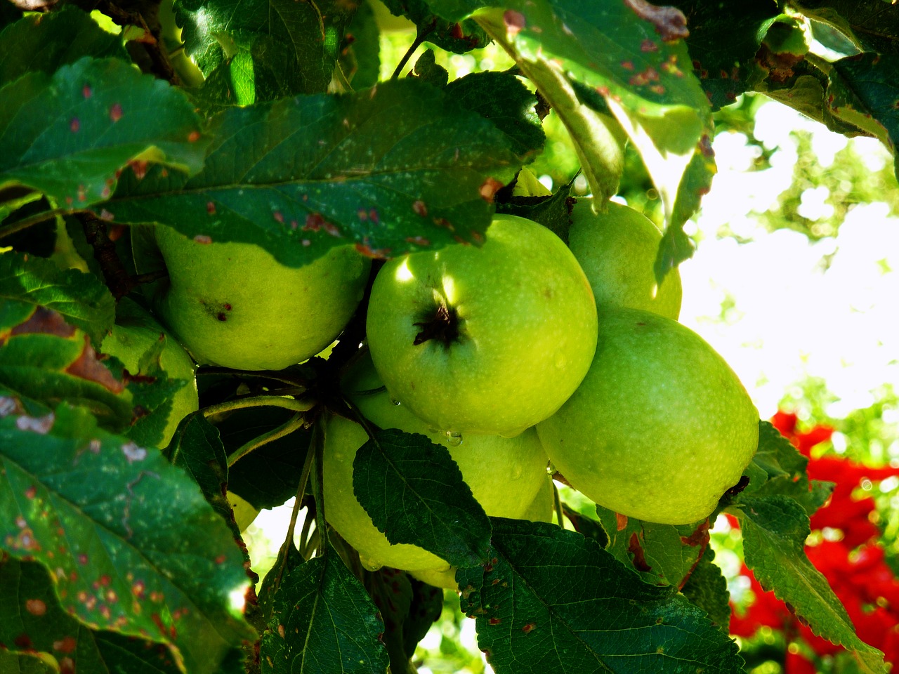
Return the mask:
[[[655,255],[662,233],[639,211],[608,201],[593,212],[592,199],[579,199],[571,214],[568,247],[581,263],[597,306],[630,306],[677,320],[681,274],[673,269],[655,282]]]

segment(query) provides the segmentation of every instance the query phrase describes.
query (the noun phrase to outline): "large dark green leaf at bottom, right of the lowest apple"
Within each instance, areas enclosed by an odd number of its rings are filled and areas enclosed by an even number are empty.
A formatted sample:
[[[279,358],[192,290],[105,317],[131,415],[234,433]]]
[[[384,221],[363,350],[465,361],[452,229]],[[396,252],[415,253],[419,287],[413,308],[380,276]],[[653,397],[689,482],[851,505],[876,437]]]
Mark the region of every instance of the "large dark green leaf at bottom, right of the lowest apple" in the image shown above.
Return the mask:
[[[493,519],[490,563],[463,569],[461,606],[497,674],[732,674],[736,644],[699,608],[542,522]]]

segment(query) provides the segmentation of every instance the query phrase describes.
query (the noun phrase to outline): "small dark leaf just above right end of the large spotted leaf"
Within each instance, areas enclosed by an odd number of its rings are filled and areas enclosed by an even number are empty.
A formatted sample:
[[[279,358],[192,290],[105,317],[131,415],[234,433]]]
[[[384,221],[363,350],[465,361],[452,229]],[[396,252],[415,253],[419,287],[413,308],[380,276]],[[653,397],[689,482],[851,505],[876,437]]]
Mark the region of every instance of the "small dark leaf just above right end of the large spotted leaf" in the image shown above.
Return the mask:
[[[509,138],[522,164],[543,151],[546,134],[534,111],[537,97],[511,73],[472,73],[447,86],[447,94],[463,108],[492,121]]]

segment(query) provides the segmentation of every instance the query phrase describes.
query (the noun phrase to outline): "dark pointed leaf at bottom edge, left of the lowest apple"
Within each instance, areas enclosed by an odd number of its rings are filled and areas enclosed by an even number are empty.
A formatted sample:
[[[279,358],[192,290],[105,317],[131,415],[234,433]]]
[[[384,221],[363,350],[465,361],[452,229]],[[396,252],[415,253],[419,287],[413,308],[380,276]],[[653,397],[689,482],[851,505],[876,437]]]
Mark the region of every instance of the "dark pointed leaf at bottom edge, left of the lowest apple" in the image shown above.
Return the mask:
[[[263,634],[263,672],[375,674],[387,670],[378,641],[384,623],[356,577],[329,548],[299,565],[281,583],[269,631]]]

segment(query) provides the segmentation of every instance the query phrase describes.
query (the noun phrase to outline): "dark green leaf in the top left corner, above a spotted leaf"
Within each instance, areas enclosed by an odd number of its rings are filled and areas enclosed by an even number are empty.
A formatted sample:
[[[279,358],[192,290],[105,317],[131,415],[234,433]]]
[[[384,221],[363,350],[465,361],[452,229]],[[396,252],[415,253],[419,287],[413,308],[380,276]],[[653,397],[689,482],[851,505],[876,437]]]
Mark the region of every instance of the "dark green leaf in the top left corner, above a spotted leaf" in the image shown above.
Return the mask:
[[[79,58],[128,59],[121,38],[102,30],[77,7],[31,14],[0,32],[0,84],[29,72],[47,75]]]

